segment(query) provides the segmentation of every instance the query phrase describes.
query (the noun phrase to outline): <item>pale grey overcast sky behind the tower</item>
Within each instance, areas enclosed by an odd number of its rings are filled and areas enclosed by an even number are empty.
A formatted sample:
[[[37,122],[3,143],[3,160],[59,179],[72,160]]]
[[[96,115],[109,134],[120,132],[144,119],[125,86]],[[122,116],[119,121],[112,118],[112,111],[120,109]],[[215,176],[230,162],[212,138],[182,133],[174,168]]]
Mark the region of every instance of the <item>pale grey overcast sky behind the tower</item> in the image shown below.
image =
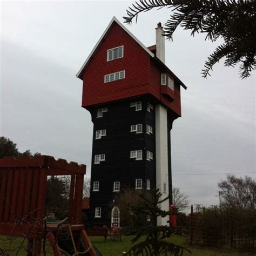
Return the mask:
[[[75,75],[111,18],[123,22],[130,3],[1,2],[1,136],[21,151],[86,164],[90,174],[92,123],[80,107],[82,80]],[[169,15],[152,10],[125,26],[150,46],[157,23]],[[166,41],[166,65],[188,87],[172,130],[173,185],[193,204],[218,204],[225,175],[217,173],[255,172],[255,72],[241,80],[238,68],[220,62],[212,77],[200,75],[219,42],[181,29]]]

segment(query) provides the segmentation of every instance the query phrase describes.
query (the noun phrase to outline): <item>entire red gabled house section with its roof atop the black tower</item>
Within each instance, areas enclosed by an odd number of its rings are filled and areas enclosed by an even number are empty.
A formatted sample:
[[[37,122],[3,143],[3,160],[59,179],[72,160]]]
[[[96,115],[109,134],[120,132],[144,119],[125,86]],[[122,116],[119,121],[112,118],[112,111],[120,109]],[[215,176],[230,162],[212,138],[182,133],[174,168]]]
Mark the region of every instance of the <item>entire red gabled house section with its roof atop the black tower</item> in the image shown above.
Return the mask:
[[[107,61],[107,50],[123,46],[123,57]],[[154,56],[156,46],[146,48],[116,18],[86,59],[77,77],[83,79],[82,106],[92,106],[150,93],[177,114],[180,85],[186,86]],[[105,75],[125,71],[125,78],[105,83]],[[174,80],[174,90],[160,85],[160,74]]]

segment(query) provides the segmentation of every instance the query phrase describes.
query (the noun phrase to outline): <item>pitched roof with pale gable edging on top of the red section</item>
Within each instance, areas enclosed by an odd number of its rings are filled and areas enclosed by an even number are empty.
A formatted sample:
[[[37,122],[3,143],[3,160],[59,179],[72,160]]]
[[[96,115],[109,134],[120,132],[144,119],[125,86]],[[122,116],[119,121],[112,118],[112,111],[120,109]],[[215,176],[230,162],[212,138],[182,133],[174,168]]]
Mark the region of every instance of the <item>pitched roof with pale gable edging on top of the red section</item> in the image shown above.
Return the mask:
[[[142,43],[139,41],[139,39],[137,37],[135,37],[128,29],[125,28],[125,26],[120,23],[118,21],[118,19],[116,17],[113,17],[109,23],[109,25],[107,26],[107,28],[105,29],[105,31],[103,32],[102,36],[99,38],[97,44],[94,46],[94,48],[92,49],[90,55],[87,57],[87,59],[85,60],[84,64],[82,65],[82,67],[80,68],[80,70],[78,71],[76,77],[80,78],[80,79],[83,79],[83,71],[86,67],[86,65],[90,62],[90,59],[91,57],[94,55],[94,53],[96,52],[96,50],[98,49],[100,43],[102,42],[102,39],[105,37],[106,33],[109,32],[110,28],[112,27],[113,23],[116,22],[128,35],[130,35],[140,46],[142,46],[142,48],[147,52],[149,53],[149,55],[152,57],[152,58],[156,58],[157,59],[157,62],[160,62],[161,65],[164,66],[164,68],[166,68],[168,71],[171,72],[171,74],[179,81],[180,85],[184,87],[184,89],[187,89],[186,85],[181,82],[181,80],[176,76],[174,75],[174,73],[163,63],[161,62],[160,59],[158,59],[154,53],[152,52],[152,50],[154,51],[156,49],[156,46],[155,45],[152,45],[152,46],[149,46],[148,48]],[[155,48],[154,48],[155,47]],[[154,48],[154,49],[153,49]]]

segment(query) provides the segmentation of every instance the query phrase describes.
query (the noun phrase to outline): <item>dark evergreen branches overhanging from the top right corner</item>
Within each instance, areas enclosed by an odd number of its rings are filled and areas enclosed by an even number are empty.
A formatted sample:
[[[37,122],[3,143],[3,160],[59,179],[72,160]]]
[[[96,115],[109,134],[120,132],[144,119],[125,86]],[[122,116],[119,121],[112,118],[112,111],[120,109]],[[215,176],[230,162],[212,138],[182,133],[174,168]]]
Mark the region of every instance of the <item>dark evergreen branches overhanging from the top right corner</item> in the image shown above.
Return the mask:
[[[225,66],[240,64],[240,77],[246,78],[255,69],[256,60],[256,4],[255,0],[139,0],[127,10],[126,23],[143,11],[152,8],[171,8],[165,23],[164,36],[172,40],[181,26],[195,33],[205,33],[205,39],[224,39],[205,62],[203,77],[221,58]]]

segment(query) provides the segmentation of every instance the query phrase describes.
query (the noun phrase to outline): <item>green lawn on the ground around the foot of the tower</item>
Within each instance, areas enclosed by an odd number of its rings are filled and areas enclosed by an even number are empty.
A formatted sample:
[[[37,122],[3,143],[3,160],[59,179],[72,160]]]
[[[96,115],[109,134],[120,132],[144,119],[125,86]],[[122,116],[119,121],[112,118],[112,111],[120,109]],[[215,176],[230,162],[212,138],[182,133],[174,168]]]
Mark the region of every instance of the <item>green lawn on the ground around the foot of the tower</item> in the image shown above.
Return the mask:
[[[123,252],[129,251],[131,248],[131,240],[133,236],[122,236],[122,241],[119,240],[110,240],[107,238],[104,241],[104,237],[90,237],[91,242],[102,252],[103,256],[122,256]],[[144,240],[145,237],[142,237],[139,241]],[[16,238],[11,242],[11,248],[15,249],[15,251],[11,252],[9,255],[16,255],[17,248],[19,244],[22,242],[22,238]],[[168,239],[167,239],[168,240]],[[223,249],[215,249],[215,248],[203,248],[203,247],[189,247],[185,243],[185,239],[183,237],[179,237],[177,235],[173,235],[169,238],[169,241],[172,241],[174,244],[178,244],[184,246],[192,251],[192,254],[188,252],[184,252],[184,256],[195,255],[195,256],[249,256],[252,254],[241,254],[231,250],[223,250]],[[24,244],[26,247],[26,242]],[[6,241],[6,237],[0,237],[0,248],[9,248],[9,242]],[[48,248],[49,249],[49,248]],[[0,251],[0,255],[1,251]],[[25,250],[19,251],[18,256],[26,255]],[[52,253],[47,253],[47,255],[53,255]]]

